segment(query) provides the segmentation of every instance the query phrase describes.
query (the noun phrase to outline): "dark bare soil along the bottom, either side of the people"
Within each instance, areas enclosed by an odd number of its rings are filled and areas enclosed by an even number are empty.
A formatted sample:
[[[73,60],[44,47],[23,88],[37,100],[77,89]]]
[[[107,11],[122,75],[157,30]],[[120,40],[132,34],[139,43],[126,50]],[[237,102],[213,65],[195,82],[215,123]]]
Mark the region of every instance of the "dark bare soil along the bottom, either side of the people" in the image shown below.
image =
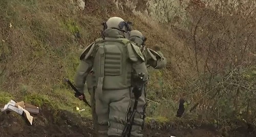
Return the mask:
[[[239,132],[230,133],[225,136],[256,136],[241,128]],[[222,133],[214,126],[201,126],[195,129],[177,128],[166,124],[156,126],[153,123],[144,128],[145,136],[221,136]],[[39,115],[34,116],[33,125],[29,125],[24,118],[14,113],[2,113],[0,115],[0,136],[93,136],[92,121],[81,118],[79,115],[68,111],[53,111],[43,109]]]

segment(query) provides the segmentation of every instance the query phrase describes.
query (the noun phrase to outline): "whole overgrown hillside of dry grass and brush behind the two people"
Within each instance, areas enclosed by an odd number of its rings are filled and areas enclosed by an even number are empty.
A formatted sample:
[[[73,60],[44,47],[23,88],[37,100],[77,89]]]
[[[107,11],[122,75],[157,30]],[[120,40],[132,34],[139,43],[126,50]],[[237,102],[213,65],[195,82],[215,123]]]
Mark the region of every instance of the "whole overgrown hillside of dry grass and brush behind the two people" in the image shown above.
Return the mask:
[[[63,78],[73,81],[81,51],[100,37],[103,21],[119,16],[168,61],[164,70],[150,69],[147,122],[211,124],[223,132],[256,126],[255,3],[96,0],[81,9],[78,2],[0,1],[1,106],[10,99],[69,112],[78,106],[91,118]],[[185,113],[177,118],[180,98]]]

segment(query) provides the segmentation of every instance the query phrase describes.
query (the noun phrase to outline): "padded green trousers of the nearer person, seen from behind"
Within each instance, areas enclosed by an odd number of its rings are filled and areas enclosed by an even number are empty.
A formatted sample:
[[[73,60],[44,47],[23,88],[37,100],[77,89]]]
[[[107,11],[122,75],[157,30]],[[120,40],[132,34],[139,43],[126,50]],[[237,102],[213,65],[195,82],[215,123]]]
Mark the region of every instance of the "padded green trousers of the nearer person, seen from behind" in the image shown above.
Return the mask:
[[[102,90],[95,92],[95,111],[98,121],[98,136],[121,136],[131,103],[131,89]]]

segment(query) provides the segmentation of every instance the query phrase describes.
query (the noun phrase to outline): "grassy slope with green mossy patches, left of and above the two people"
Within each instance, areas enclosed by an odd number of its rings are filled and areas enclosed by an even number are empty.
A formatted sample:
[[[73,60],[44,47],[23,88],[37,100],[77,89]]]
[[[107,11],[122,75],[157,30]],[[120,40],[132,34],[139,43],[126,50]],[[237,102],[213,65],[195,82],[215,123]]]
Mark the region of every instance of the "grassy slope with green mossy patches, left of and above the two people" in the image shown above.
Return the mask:
[[[70,1],[4,0],[0,13],[1,105],[12,98],[68,110],[86,107],[62,79],[73,80],[82,49],[100,37],[101,23],[111,16],[133,21],[134,28],[145,32],[152,45],[157,43],[154,39],[168,43],[159,28],[129,9],[117,10],[110,1],[87,2],[85,9],[79,10],[76,2]],[[86,108],[83,113],[88,116]]]

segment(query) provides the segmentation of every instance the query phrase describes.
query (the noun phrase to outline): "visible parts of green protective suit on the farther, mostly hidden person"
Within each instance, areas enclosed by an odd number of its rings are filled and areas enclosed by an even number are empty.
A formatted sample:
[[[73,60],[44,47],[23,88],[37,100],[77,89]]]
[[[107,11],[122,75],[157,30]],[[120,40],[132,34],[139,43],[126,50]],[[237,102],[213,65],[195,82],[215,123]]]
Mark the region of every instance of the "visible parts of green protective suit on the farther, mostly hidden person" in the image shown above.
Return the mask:
[[[142,40],[140,38],[133,37],[130,40],[134,42],[138,47],[141,47]],[[160,50],[155,51],[150,48],[145,48],[143,50],[143,57],[145,59],[146,65],[149,65],[155,69],[163,69],[167,64],[166,58],[163,57],[163,54]],[[131,110],[133,110],[134,102],[135,98],[134,95],[132,95]],[[142,128],[144,126],[145,108],[146,86],[144,87],[144,91],[142,92],[141,97],[138,99],[137,113],[134,118],[134,125],[132,127],[131,136],[143,136]]]

